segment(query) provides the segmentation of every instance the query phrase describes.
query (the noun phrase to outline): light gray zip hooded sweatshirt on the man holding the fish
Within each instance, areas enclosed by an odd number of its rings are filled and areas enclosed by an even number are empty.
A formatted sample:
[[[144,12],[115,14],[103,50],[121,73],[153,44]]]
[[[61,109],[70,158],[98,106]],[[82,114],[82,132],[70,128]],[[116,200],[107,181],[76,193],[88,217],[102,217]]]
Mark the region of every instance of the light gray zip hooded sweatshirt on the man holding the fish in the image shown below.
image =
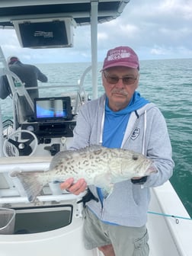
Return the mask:
[[[105,99],[104,94],[81,107],[70,149],[101,145]],[[174,168],[165,118],[155,104],[146,104],[130,114],[121,148],[151,158],[157,173],[151,174],[143,185],[133,184],[130,180],[119,182],[114,185],[113,193],[104,198],[103,202],[91,200],[87,206],[104,222],[121,226],[144,226],[147,221],[150,187],[160,186],[168,181]],[[99,198],[97,187],[91,185],[89,188]]]

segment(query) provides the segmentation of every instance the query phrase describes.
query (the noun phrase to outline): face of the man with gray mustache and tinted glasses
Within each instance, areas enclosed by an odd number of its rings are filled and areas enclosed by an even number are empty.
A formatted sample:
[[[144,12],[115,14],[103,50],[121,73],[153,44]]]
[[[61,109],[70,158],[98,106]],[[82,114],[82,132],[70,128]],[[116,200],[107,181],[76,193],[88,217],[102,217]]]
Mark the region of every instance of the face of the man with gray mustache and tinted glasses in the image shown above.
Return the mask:
[[[130,103],[138,87],[139,72],[137,69],[116,66],[104,70],[102,80],[110,109],[118,111]]]

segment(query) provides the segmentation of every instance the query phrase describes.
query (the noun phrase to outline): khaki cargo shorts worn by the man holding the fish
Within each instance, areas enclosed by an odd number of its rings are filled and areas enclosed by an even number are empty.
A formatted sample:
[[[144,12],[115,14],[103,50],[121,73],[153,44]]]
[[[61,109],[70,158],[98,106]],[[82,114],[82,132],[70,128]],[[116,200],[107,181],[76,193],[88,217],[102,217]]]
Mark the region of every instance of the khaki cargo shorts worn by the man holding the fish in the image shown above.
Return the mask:
[[[148,232],[146,226],[139,228],[110,225],[101,222],[88,207],[84,210],[85,248],[91,250],[112,244],[116,256],[148,256]]]

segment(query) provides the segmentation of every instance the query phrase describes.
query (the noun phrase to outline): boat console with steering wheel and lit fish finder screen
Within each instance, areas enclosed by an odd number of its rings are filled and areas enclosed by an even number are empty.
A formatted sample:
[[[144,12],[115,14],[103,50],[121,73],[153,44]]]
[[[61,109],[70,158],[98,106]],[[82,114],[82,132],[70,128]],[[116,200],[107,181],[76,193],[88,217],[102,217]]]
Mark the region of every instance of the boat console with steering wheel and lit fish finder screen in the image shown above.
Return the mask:
[[[5,140],[5,155],[56,155],[67,149],[75,124],[70,97],[35,98],[34,116]]]

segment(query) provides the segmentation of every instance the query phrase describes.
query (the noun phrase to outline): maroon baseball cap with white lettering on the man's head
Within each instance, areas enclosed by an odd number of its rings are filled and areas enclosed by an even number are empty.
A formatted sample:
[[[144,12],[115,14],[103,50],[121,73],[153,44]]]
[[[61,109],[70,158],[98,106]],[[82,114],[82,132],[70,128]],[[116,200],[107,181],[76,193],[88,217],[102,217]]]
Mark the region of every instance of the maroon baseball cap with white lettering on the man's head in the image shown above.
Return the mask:
[[[128,46],[119,46],[108,50],[107,56],[104,59],[104,69],[109,69],[114,66],[126,66],[128,68],[139,70],[139,58],[136,53]]]

